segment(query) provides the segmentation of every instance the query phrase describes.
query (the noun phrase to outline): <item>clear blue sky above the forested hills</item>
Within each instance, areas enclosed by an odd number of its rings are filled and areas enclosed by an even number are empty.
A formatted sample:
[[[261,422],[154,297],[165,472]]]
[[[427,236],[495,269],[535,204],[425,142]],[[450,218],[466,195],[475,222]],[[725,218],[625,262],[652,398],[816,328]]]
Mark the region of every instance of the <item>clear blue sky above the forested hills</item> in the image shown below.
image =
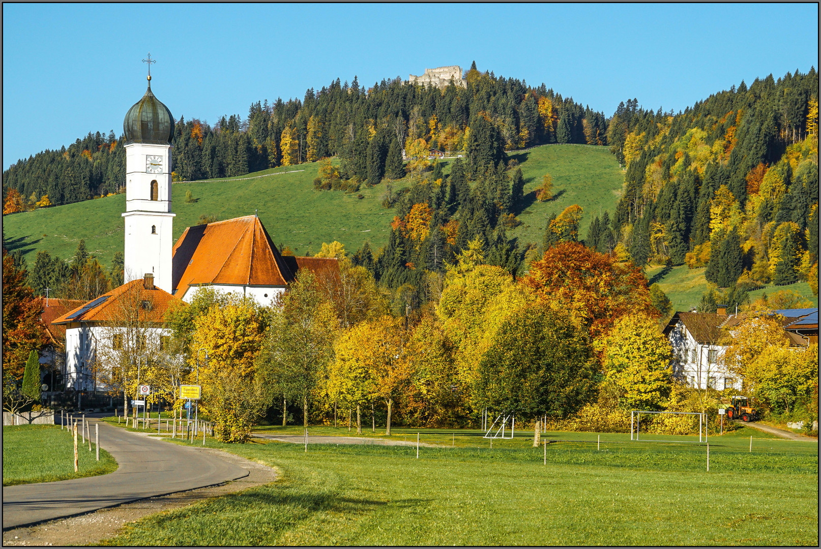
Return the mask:
[[[544,82],[608,116],[686,108],[741,80],[818,68],[815,4],[5,4],[3,168],[122,132],[145,89],[175,117],[245,117],[337,77],[470,66]]]

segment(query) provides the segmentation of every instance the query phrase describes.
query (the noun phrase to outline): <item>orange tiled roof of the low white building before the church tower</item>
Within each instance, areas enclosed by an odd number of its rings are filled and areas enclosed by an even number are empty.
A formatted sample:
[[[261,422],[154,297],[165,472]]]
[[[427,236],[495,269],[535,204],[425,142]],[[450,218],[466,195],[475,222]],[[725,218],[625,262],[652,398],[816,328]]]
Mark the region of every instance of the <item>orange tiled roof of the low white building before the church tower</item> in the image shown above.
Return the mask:
[[[60,315],[60,317],[52,321],[52,324],[59,325],[76,322],[109,323],[117,321],[124,314],[123,306],[130,306],[128,304],[129,300],[134,300],[136,304],[149,301],[150,309],[141,309],[145,310],[144,320],[153,323],[162,323],[168,307],[174,303],[182,303],[181,300],[178,300],[167,291],[160,290],[157,286],[154,286],[151,290],[145,289],[142,278],[126,282],[126,284],[100,295],[97,300],[102,297],[106,297],[106,299],[94,305],[94,307],[89,308],[84,313],[75,316],[77,311],[92,303],[94,300]]]

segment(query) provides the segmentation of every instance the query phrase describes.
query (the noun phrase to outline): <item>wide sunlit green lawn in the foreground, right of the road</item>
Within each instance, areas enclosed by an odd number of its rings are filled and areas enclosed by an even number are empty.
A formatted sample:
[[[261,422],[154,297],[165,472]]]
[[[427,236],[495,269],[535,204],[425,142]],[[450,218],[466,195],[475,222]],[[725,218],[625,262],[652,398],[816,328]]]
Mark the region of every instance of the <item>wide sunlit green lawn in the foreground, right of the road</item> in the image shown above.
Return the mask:
[[[562,441],[533,448],[532,432],[521,432],[491,449],[479,432],[421,430],[423,442],[439,447],[420,448],[418,460],[415,446],[305,452],[299,444],[209,439],[275,467],[279,479],[146,517],[104,543],[818,545],[817,444],[754,432],[750,452],[750,431],[710,438],[709,473],[698,437],[631,442],[607,433],[597,450],[596,433],[550,432],[544,437]],[[394,438],[415,440],[416,432],[400,429]]]

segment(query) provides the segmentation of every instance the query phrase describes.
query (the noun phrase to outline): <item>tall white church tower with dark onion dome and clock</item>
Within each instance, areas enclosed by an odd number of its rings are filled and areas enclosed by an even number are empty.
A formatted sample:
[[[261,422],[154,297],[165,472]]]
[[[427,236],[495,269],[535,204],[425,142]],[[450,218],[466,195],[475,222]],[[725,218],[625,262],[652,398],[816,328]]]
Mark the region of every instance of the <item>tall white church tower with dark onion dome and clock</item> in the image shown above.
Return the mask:
[[[150,58],[150,57],[149,57]],[[128,110],[126,135],[125,281],[154,275],[154,285],[172,292],[171,141],[174,117],[149,87]]]

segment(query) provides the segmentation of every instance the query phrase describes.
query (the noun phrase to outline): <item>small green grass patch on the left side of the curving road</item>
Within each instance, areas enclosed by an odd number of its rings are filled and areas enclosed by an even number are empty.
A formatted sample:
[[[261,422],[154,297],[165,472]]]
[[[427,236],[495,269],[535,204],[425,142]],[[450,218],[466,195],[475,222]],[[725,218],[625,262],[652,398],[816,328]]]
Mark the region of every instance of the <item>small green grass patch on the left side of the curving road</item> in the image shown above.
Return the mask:
[[[93,433],[93,430],[92,430]],[[94,436],[92,434],[92,436]],[[96,446],[85,446],[77,435],[78,473],[74,472],[74,439],[57,425],[16,425],[2,428],[2,485],[51,483],[68,478],[93,477],[117,470],[117,461]]]

